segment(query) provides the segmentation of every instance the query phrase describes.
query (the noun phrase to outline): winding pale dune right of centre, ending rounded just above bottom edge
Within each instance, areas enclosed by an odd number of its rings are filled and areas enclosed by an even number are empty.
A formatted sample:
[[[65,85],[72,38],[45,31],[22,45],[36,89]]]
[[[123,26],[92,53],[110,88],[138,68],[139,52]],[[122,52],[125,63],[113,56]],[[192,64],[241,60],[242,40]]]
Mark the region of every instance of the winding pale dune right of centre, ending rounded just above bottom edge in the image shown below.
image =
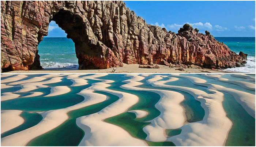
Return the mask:
[[[176,129],[184,125],[186,117],[184,115],[184,108],[180,105],[180,103],[184,100],[184,96],[182,94],[168,90],[136,87],[143,84],[138,81],[143,80],[144,77],[134,74],[128,74],[126,76],[131,79],[124,80],[123,82],[127,84],[120,86],[121,88],[127,90],[150,91],[159,94],[161,97],[159,102],[155,105],[161,114],[150,121],[152,124],[143,128],[143,131],[148,135],[146,140],[152,142],[165,141],[167,137],[165,134],[165,129]],[[162,79],[162,77],[155,76],[155,79],[153,80],[158,79]]]

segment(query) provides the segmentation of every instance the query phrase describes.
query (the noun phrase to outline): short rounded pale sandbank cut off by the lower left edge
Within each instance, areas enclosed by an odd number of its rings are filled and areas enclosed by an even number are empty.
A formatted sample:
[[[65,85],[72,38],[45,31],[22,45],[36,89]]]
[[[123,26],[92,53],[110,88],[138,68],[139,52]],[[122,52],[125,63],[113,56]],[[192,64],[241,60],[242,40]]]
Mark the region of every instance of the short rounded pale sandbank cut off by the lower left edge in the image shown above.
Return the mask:
[[[9,131],[25,121],[20,114],[20,110],[2,110],[1,111],[1,133]]]

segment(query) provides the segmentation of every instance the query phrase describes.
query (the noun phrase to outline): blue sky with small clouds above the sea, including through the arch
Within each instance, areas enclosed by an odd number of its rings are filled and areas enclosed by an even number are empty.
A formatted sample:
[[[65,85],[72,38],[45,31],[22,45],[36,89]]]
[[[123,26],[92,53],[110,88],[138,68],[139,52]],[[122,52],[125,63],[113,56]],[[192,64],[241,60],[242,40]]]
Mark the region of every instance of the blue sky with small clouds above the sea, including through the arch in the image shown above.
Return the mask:
[[[176,32],[185,23],[215,37],[255,37],[255,1],[125,1],[148,24]],[[47,37],[66,37],[51,22]]]

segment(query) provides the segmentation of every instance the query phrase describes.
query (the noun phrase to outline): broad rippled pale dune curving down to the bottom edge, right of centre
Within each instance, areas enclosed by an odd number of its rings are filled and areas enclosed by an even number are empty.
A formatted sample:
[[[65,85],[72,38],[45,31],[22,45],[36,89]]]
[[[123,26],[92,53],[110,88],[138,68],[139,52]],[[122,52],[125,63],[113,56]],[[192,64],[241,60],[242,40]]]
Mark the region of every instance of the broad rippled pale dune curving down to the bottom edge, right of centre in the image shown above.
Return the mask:
[[[180,128],[182,131],[179,135],[169,137],[167,141],[173,142],[176,146],[223,146],[232,125],[222,106],[223,94],[214,88],[208,88],[214,91],[214,94],[207,94],[202,90],[164,84],[172,80],[170,78],[165,81],[152,82],[155,80],[151,79],[147,82],[154,87],[181,90],[193,95],[195,99],[201,102],[205,116],[202,121],[185,124]],[[202,83],[205,82],[202,79],[197,80]]]

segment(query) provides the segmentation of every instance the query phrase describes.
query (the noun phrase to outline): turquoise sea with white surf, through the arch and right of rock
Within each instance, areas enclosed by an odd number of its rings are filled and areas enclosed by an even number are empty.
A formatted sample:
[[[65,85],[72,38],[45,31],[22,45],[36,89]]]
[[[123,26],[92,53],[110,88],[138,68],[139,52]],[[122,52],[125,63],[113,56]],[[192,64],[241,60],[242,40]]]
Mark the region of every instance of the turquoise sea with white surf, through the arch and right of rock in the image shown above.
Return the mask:
[[[245,67],[229,68],[227,71],[255,72],[255,37],[215,37],[224,42],[236,53],[240,51],[248,54]],[[38,53],[43,68],[78,69],[75,45],[66,37],[45,37],[38,45]]]

